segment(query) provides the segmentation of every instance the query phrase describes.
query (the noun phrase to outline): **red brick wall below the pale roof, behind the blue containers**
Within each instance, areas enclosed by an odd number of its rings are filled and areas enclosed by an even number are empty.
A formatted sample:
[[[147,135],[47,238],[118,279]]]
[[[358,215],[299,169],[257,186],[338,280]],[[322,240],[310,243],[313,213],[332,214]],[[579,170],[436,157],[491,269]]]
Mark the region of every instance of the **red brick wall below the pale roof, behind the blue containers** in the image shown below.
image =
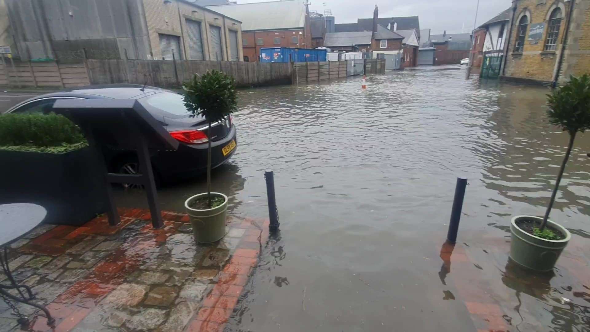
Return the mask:
[[[306,44],[306,37],[303,29],[298,30],[273,30],[273,31],[242,31],[242,38],[246,43],[243,44],[244,56],[249,58],[250,62],[258,62],[261,47],[298,47],[310,48]],[[299,34],[301,32],[301,34]],[[274,38],[280,38],[280,44],[274,44]],[[291,37],[297,37],[298,44],[291,44]],[[262,38],[264,44],[256,45],[256,40]],[[311,40],[311,37],[309,38]],[[310,42],[311,43],[311,42]]]

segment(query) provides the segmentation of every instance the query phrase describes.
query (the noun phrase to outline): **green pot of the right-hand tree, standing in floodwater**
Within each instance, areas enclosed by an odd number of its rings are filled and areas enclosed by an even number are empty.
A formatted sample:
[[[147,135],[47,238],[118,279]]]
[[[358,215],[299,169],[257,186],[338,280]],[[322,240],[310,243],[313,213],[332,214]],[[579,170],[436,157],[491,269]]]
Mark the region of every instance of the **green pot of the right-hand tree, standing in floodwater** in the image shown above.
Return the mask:
[[[569,239],[572,238],[571,233],[560,224],[548,220],[547,224],[560,230],[565,235],[565,239],[545,240],[516,226],[516,222],[523,219],[543,221],[543,218],[534,216],[516,216],[512,218],[512,224],[510,225],[510,233],[512,234],[510,258],[529,269],[550,271],[555,266],[563,248],[568,245]]]

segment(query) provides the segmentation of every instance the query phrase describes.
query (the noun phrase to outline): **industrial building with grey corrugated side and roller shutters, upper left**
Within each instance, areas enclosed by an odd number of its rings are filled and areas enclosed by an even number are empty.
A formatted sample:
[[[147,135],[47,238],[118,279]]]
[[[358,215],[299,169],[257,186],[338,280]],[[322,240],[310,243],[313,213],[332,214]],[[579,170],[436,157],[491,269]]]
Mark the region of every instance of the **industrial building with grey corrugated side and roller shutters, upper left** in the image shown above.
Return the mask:
[[[5,0],[21,60],[241,61],[238,19],[187,0]],[[209,0],[211,1],[211,0]]]

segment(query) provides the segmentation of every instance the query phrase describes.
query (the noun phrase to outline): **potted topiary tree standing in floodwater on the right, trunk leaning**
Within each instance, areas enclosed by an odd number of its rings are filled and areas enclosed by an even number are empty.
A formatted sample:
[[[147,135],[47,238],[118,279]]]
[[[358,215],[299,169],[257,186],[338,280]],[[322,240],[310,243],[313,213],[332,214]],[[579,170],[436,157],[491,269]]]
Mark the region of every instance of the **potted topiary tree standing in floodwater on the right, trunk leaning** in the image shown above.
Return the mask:
[[[549,220],[549,213],[555,202],[576,134],[590,129],[590,76],[571,76],[565,86],[553,90],[553,93],[548,95],[548,105],[549,122],[569,134],[568,150],[559,169],[545,217],[516,216],[513,217],[510,227],[510,258],[537,271],[553,269],[563,248],[571,239],[571,234],[565,227]]]

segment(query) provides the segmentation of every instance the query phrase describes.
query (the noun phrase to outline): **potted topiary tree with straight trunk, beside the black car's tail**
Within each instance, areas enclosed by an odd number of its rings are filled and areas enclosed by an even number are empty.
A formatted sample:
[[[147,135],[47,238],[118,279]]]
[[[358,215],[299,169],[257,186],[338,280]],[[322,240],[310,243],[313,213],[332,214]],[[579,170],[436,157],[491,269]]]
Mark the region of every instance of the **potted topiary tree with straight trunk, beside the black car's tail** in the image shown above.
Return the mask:
[[[236,109],[235,79],[221,71],[207,71],[203,76],[195,74],[182,88],[186,92],[186,109],[207,121],[207,135],[211,132],[211,123],[222,121]],[[208,140],[207,149],[207,193],[189,197],[185,209],[191,218],[196,242],[215,242],[225,236],[227,196],[211,192],[211,140]]]

